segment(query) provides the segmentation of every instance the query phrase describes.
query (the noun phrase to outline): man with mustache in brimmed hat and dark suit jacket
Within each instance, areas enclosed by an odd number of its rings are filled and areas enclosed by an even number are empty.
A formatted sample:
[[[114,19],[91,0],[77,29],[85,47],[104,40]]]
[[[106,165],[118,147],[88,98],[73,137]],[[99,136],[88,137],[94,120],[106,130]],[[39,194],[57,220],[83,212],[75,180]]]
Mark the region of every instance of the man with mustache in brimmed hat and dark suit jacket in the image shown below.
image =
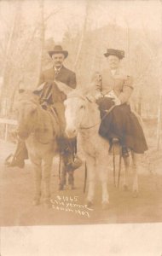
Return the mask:
[[[61,123],[61,130],[65,131],[64,100],[67,93],[76,88],[76,74],[63,66],[64,60],[68,56],[67,50],[63,50],[61,45],[55,45],[49,51],[53,67],[43,71],[38,82],[38,89],[35,90],[40,96],[40,103],[43,108],[47,108],[55,103],[55,111]]]

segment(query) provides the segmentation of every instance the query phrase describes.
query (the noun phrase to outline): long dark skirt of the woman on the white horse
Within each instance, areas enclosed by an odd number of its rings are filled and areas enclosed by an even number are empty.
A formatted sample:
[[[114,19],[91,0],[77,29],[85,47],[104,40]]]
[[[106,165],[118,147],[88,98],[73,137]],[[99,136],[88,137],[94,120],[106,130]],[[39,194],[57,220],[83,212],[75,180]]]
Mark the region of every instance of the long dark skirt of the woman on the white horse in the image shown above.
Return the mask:
[[[122,146],[132,149],[137,154],[143,154],[148,150],[148,145],[136,115],[130,111],[130,106],[126,103],[115,106],[113,110],[106,114],[113,106],[110,98],[101,98],[98,102],[101,111],[101,125],[99,134],[107,138],[110,142],[113,137],[118,137]]]

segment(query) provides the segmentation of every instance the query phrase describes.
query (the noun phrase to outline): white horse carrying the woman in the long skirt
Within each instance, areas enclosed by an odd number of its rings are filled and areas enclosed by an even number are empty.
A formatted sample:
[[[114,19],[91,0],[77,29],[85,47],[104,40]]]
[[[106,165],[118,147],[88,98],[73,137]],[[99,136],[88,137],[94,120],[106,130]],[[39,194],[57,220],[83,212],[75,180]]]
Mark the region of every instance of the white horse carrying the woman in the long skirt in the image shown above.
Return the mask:
[[[64,102],[67,120],[67,136],[79,137],[82,148],[84,149],[85,160],[88,170],[88,195],[87,204],[93,204],[95,196],[95,174],[98,174],[101,180],[102,188],[102,206],[109,204],[109,195],[107,191],[107,172],[110,165],[110,155],[108,154],[109,143],[99,134],[101,124],[100,111],[94,101],[90,101],[86,94],[81,90],[74,90],[68,94]],[[134,169],[133,192],[138,192],[137,177],[137,154],[131,152]],[[128,188],[128,172],[130,168],[129,158],[124,158],[124,189]]]

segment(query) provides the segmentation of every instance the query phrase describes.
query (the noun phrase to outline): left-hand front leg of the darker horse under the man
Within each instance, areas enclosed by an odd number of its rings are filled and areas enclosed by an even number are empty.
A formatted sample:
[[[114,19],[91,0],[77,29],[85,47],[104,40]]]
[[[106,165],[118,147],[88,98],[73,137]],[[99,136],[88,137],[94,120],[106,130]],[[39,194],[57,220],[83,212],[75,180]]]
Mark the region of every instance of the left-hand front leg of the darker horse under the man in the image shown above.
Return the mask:
[[[33,180],[34,180],[34,199],[33,205],[38,205],[40,203],[41,197],[41,180],[42,180],[42,169],[41,169],[41,159],[29,155],[33,166]]]

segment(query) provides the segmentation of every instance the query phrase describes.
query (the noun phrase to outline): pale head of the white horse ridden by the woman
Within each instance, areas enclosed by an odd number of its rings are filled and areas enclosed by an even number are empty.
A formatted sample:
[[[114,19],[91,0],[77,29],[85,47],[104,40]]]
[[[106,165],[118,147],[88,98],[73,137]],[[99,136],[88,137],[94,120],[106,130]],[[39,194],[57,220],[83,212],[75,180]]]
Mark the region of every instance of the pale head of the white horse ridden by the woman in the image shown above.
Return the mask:
[[[91,102],[86,93],[81,90],[74,90],[68,94],[65,104],[65,118],[67,121],[67,137],[76,137],[81,127],[90,125],[90,121],[96,118],[90,117],[90,114],[97,113],[98,108],[95,102]]]

